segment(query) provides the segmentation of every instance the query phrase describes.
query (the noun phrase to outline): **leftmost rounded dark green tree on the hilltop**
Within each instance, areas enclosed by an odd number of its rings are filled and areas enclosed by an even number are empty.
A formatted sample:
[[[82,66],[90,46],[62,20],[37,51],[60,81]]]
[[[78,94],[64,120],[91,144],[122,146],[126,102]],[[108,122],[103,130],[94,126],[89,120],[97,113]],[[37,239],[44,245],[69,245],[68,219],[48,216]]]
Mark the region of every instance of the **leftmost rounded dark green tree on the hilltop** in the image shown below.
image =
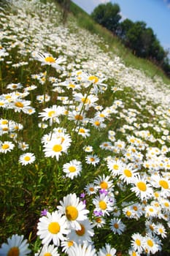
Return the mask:
[[[120,7],[118,4],[112,4],[111,2],[99,4],[98,7],[93,10],[91,17],[97,23],[101,24],[101,26],[115,33],[121,19]]]

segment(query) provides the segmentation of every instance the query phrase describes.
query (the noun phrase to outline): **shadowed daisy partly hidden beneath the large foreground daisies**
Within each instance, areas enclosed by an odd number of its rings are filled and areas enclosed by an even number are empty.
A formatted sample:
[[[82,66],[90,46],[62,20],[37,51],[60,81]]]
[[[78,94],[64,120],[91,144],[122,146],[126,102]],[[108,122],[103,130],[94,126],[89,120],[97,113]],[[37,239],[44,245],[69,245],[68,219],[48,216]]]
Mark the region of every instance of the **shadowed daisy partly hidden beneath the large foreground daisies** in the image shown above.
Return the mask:
[[[68,235],[69,240],[77,244],[83,244],[85,241],[91,242],[91,237],[94,236],[93,225],[88,219],[79,222],[80,230],[71,230]]]

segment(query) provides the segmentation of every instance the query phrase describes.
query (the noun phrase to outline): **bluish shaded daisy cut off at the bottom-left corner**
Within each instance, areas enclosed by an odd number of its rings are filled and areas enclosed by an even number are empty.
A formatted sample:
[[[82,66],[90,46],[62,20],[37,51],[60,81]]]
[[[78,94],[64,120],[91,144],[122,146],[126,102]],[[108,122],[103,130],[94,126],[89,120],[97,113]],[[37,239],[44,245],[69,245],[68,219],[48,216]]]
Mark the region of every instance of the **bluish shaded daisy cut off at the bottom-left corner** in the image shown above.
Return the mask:
[[[25,256],[30,252],[27,240],[23,240],[23,236],[18,236],[17,234],[13,235],[12,238],[7,238],[7,244],[2,244],[0,248],[1,256]]]

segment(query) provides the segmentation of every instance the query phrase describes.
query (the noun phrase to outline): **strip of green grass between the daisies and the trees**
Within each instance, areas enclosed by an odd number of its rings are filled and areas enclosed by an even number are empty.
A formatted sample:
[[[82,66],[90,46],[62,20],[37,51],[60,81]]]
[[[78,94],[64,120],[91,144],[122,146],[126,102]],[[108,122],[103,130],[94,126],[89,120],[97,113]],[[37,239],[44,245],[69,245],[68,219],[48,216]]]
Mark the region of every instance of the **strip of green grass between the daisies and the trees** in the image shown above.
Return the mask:
[[[150,78],[154,78],[155,75],[158,75],[163,79],[164,83],[170,83],[169,78],[164,75],[161,68],[147,59],[134,56],[130,49],[125,48],[118,37],[116,37],[114,34],[112,34],[112,32],[108,31],[104,27],[100,26],[98,23],[95,23],[94,20],[90,18],[90,15],[87,14],[87,12],[82,10],[73,2],[71,2],[70,10],[74,17],[77,19],[79,26],[83,29],[88,29],[88,31],[90,31],[92,34],[98,34],[98,36],[102,37],[107,45],[109,45],[109,51],[112,51],[112,53],[120,56],[126,66],[140,69]]]

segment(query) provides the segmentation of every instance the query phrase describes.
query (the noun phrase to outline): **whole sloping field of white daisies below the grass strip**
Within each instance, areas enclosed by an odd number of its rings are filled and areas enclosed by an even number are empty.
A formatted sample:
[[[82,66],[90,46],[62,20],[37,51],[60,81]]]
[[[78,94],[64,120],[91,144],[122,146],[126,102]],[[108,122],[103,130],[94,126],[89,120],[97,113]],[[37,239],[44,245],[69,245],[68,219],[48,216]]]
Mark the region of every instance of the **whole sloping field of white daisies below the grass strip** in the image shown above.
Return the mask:
[[[0,256],[170,255],[170,83],[54,1],[0,11]]]

